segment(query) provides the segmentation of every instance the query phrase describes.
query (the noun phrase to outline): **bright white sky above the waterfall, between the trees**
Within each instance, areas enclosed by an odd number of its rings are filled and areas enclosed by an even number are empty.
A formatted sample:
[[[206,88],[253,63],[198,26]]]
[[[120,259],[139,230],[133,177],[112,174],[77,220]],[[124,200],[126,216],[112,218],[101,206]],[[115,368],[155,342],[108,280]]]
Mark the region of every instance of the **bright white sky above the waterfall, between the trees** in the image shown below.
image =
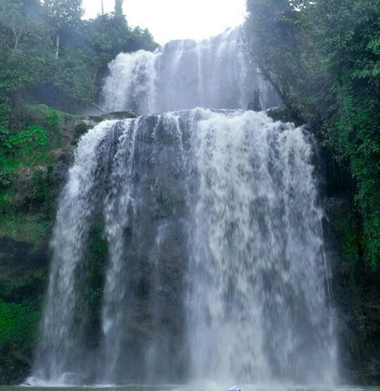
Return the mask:
[[[105,12],[114,0],[103,0]],[[171,39],[212,37],[243,23],[246,0],[125,0],[129,25],[149,31],[159,44]],[[101,0],[84,0],[86,17],[101,12]]]

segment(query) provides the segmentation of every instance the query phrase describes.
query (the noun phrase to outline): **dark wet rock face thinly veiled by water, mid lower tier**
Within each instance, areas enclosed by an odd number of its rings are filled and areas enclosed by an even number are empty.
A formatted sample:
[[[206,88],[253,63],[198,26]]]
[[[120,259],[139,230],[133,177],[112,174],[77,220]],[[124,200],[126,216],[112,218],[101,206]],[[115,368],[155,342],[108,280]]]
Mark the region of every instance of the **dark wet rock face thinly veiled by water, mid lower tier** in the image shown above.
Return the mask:
[[[184,331],[185,186],[177,147],[176,142],[167,140],[158,146],[137,141],[136,146],[137,176],[132,197],[137,203],[130,227],[132,245],[127,248],[125,259],[133,264],[129,273],[135,276],[132,307],[145,308],[145,314],[131,309],[132,316],[136,323],[142,315],[151,324],[151,341],[145,349],[144,343],[140,347],[145,354],[146,349],[151,350],[153,372],[144,373],[143,379],[157,379],[163,373],[169,378],[182,378],[185,370],[178,349]],[[152,340],[156,340],[153,349]],[[177,364],[169,373],[167,368],[173,362]]]

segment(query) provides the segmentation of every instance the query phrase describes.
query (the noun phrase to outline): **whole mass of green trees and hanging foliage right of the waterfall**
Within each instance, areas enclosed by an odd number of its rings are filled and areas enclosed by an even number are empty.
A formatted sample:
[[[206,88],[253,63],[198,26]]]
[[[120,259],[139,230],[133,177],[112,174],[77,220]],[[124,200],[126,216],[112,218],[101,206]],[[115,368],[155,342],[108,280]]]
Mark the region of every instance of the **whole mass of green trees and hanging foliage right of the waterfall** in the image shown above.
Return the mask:
[[[360,245],[380,269],[380,1],[248,0],[247,9],[262,75],[350,168]]]

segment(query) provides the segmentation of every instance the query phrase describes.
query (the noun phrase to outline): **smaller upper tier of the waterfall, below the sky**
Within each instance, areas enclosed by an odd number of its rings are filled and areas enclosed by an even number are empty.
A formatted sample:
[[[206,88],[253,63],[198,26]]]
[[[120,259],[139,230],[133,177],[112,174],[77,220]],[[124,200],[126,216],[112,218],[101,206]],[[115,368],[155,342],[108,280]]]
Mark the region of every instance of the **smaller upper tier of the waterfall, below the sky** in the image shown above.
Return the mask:
[[[250,63],[241,27],[203,41],[171,41],[154,53],[120,53],[101,96],[108,112],[166,113],[196,107],[246,108],[260,88],[262,108],[279,99]]]

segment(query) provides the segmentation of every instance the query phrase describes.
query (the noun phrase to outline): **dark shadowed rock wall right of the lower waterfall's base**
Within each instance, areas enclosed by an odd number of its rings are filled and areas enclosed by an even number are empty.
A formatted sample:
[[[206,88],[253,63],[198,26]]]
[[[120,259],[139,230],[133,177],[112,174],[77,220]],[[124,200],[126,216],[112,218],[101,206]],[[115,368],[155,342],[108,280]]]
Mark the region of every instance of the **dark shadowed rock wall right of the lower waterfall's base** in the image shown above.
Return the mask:
[[[329,158],[324,156],[324,162],[328,164]],[[341,183],[346,179],[345,173],[341,177],[338,174],[336,167],[327,172],[329,197],[324,198],[323,205],[327,217],[324,237],[327,256],[332,261],[331,289],[338,319],[340,373],[347,383],[379,385],[380,285],[373,271],[363,267],[364,259],[353,262],[350,258],[355,255],[355,248],[343,251],[341,222],[352,201],[350,193],[341,192],[345,188]],[[355,231],[355,224],[350,230]]]

